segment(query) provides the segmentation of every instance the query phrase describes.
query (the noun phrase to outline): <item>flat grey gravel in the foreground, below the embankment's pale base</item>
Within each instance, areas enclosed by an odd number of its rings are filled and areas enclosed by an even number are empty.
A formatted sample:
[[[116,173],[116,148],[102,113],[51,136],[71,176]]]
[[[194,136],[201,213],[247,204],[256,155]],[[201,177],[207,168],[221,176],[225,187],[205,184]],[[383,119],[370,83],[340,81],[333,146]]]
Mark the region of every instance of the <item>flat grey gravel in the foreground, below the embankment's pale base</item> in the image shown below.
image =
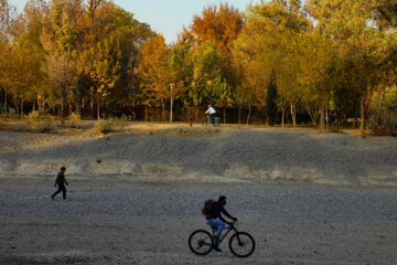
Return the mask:
[[[0,264],[397,264],[397,191],[313,186],[69,181],[0,183]],[[195,256],[206,198],[228,198],[253,256]]]

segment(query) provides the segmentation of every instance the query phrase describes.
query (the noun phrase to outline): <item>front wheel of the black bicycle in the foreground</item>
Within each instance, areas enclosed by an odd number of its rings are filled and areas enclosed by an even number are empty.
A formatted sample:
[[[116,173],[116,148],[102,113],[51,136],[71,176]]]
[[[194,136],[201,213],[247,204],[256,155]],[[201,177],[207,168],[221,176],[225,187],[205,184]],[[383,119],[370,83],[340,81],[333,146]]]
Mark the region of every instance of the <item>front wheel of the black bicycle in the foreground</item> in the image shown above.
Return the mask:
[[[229,240],[230,252],[237,257],[247,257],[255,251],[254,237],[246,232],[237,232]]]

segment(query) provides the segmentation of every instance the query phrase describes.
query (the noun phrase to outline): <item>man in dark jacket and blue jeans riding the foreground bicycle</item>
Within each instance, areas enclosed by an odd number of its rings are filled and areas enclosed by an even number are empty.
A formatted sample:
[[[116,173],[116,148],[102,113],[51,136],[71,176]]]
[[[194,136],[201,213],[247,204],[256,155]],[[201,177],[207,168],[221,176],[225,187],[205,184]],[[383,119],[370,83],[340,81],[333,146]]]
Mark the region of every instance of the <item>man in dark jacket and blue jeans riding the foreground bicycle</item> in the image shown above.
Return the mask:
[[[230,224],[222,216],[221,213],[225,214],[227,218],[232,219],[235,222],[237,221],[236,218],[232,216],[228,212],[226,212],[224,205],[226,205],[226,197],[221,195],[218,201],[211,203],[210,212],[208,215],[206,216],[206,223],[216,230],[215,239],[214,239],[215,241],[214,250],[217,252],[222,252],[222,250],[218,246],[222,231],[225,229],[226,223]]]

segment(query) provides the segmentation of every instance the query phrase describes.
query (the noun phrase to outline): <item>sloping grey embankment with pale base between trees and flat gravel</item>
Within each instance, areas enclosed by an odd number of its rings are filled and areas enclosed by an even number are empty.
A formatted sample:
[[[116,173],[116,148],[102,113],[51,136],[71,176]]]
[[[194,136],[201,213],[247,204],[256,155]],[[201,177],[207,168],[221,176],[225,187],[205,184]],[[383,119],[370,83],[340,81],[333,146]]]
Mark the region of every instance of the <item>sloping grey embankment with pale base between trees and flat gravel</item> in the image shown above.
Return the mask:
[[[397,138],[311,129],[138,128],[103,137],[0,131],[0,178],[397,187]]]

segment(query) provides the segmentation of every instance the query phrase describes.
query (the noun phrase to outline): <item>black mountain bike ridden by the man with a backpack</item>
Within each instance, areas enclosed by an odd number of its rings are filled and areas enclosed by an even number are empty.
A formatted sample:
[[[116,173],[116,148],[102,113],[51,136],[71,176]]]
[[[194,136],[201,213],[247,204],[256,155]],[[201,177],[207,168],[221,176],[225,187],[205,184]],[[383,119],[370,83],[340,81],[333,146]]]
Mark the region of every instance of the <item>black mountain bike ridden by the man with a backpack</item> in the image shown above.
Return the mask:
[[[212,234],[206,230],[196,230],[189,236],[189,248],[196,255],[207,255],[215,247],[215,229],[212,227]],[[230,236],[228,246],[230,252],[237,257],[248,257],[255,251],[255,240],[247,232],[238,232],[234,223],[225,227],[227,230],[219,239],[219,244],[225,240],[230,231],[235,233]]]

